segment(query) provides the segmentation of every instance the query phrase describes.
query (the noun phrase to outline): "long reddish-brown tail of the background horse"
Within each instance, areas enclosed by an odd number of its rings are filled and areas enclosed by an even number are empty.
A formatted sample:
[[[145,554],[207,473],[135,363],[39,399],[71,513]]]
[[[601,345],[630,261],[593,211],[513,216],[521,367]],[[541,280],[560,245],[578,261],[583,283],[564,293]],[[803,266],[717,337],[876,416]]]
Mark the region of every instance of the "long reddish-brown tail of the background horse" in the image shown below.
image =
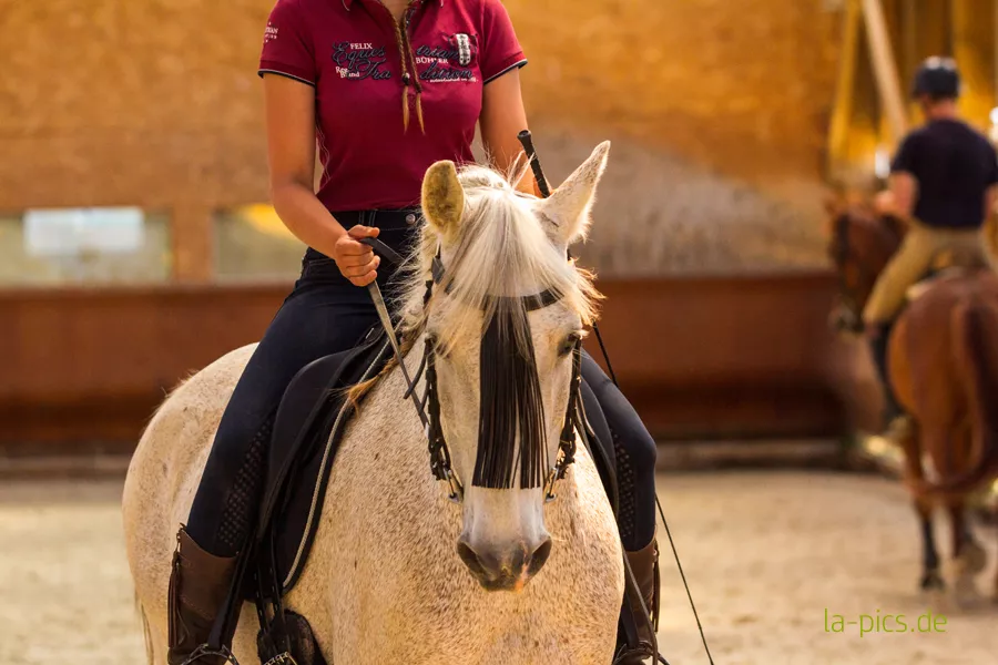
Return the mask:
[[[938,483],[926,483],[930,494],[964,494],[998,473],[998,313],[984,303],[958,306],[954,311],[954,350],[967,396],[972,444],[968,467]]]

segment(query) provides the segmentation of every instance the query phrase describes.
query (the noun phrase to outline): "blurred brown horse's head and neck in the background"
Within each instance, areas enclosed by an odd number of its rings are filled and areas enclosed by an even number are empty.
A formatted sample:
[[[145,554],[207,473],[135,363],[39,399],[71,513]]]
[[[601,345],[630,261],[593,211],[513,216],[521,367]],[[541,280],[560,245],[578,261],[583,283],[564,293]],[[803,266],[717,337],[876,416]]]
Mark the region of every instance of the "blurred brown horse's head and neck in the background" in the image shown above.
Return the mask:
[[[828,255],[838,275],[839,305],[832,324],[839,330],[858,331],[863,307],[900,244],[905,225],[877,206],[862,203],[829,202],[826,208],[831,221]]]

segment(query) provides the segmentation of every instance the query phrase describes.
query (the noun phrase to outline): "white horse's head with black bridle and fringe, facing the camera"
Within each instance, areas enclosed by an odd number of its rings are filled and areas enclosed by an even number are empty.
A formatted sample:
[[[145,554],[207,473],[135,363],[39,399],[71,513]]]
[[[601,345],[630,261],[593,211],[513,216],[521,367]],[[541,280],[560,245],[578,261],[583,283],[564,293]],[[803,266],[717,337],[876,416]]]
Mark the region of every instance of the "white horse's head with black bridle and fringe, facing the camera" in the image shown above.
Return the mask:
[[[546,485],[599,298],[567,253],[588,229],[609,147],[546,200],[481,166],[438,162],[424,181],[408,311],[430,358],[429,429],[439,428],[464,489],[458,554],[490,591],[521,589],[551,551]],[[424,304],[430,274],[437,284]]]

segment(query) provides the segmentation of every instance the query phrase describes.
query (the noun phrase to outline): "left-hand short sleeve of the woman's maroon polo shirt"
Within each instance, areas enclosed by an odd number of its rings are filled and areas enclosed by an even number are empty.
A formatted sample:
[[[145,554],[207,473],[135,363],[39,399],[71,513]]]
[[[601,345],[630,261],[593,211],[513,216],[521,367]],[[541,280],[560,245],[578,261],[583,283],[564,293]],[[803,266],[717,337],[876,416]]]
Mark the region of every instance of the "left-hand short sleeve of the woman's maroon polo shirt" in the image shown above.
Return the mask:
[[[315,50],[299,0],[277,0],[271,10],[257,70],[267,73],[315,85]]]

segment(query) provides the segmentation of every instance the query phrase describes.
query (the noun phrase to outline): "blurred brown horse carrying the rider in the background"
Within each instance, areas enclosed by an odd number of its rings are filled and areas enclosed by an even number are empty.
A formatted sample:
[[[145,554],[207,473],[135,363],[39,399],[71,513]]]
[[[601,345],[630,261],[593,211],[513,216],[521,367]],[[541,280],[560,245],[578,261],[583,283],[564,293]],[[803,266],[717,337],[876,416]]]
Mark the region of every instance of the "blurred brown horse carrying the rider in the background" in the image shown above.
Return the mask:
[[[829,206],[829,253],[839,277],[836,324],[862,329],[860,313],[906,225],[864,205]],[[908,427],[897,437],[905,482],[921,522],[924,590],[943,589],[931,510],[946,507],[953,528],[957,593],[974,592],[986,563],[966,516],[968,494],[998,477],[998,276],[980,256],[946,253],[909,293],[888,340],[888,374]],[[927,457],[935,471],[928,480]],[[995,581],[998,602],[998,579]]]

